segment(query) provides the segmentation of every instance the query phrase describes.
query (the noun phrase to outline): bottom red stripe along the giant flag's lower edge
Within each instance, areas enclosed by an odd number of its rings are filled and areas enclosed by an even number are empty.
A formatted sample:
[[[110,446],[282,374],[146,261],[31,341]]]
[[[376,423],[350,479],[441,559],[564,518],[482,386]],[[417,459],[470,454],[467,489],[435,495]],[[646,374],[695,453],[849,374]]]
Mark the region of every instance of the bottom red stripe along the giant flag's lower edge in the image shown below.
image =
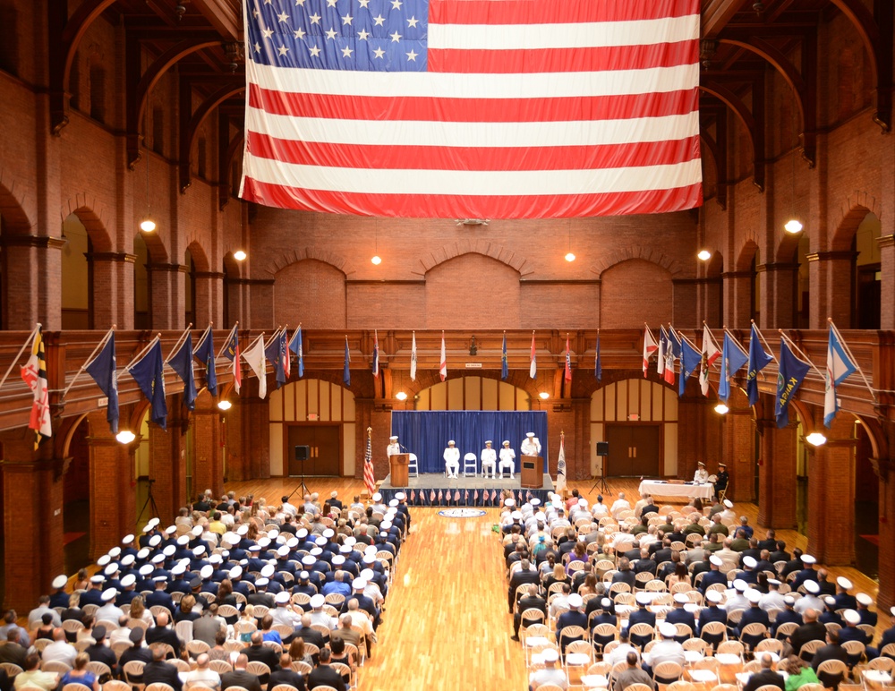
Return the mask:
[[[567,218],[668,213],[703,203],[699,183],[668,190],[600,194],[459,196],[305,190],[245,178],[243,199],[280,209],[404,218]]]

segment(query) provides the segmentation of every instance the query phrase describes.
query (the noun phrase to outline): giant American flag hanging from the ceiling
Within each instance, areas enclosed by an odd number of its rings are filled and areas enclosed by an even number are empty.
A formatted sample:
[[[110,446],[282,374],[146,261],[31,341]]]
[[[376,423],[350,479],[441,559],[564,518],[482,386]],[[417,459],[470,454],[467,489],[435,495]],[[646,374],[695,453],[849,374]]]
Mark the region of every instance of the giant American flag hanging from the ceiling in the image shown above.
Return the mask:
[[[428,218],[702,202],[698,0],[246,0],[243,199]]]

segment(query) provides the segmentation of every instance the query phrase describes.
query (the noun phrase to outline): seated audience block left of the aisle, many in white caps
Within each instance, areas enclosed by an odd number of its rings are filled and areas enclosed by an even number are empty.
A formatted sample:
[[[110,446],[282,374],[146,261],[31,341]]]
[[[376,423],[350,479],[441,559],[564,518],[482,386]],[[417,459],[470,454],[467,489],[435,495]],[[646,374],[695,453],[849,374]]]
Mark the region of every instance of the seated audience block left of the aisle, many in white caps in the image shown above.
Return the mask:
[[[273,507],[207,491],[175,525],[126,535],[73,588],[57,576],[27,628],[6,611],[0,691],[356,687],[410,528],[405,499]]]

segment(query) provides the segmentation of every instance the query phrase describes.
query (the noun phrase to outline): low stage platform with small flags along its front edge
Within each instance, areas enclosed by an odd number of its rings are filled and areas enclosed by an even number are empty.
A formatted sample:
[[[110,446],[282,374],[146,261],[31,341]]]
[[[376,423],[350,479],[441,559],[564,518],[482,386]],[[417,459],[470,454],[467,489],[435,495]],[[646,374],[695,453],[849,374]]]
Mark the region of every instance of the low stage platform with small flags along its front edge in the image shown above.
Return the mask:
[[[496,507],[504,490],[512,491],[520,504],[534,498],[545,503],[548,493],[553,491],[553,480],[547,473],[544,473],[539,489],[520,487],[518,474],[513,480],[464,477],[463,474],[456,480],[449,480],[444,473],[420,473],[419,477],[411,476],[408,482],[407,487],[394,487],[388,474],[379,485],[379,492],[388,503],[397,492],[403,491],[407,503],[414,507]]]

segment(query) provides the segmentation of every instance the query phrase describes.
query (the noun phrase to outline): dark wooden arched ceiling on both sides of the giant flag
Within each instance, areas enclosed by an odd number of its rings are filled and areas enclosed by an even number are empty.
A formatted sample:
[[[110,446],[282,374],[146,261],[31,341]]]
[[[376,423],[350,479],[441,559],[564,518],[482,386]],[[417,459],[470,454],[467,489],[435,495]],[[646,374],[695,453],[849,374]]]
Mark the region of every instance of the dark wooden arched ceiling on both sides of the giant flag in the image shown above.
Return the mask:
[[[49,0],[51,17],[68,15],[66,0]],[[773,71],[792,90],[796,131],[808,165],[814,165],[817,132],[817,32],[838,13],[857,30],[873,68],[876,120],[884,131],[891,124],[892,3],[874,0],[703,0],[700,112],[703,147],[711,156],[717,196],[724,204],[729,180],[727,152],[730,115],[744,128],[752,145],[754,183],[764,186],[765,80]],[[217,180],[226,181],[234,152],[241,149],[243,130],[243,49],[240,0],[83,0],[67,22],[51,26],[52,124],[67,123],[67,97],[73,55],[93,21],[124,26],[127,46],[128,155],[140,158],[142,117],[152,87],[176,66],[181,100],[198,96],[200,107],[181,107],[181,187],[190,184],[190,145],[195,132],[212,114],[222,132]],[[56,34],[54,37],[53,34]],[[53,38],[57,38],[54,41]],[[141,47],[149,66],[141,60]],[[214,177],[214,173],[211,174]],[[221,184],[226,188],[226,184]],[[221,192],[226,203],[229,190]]]

